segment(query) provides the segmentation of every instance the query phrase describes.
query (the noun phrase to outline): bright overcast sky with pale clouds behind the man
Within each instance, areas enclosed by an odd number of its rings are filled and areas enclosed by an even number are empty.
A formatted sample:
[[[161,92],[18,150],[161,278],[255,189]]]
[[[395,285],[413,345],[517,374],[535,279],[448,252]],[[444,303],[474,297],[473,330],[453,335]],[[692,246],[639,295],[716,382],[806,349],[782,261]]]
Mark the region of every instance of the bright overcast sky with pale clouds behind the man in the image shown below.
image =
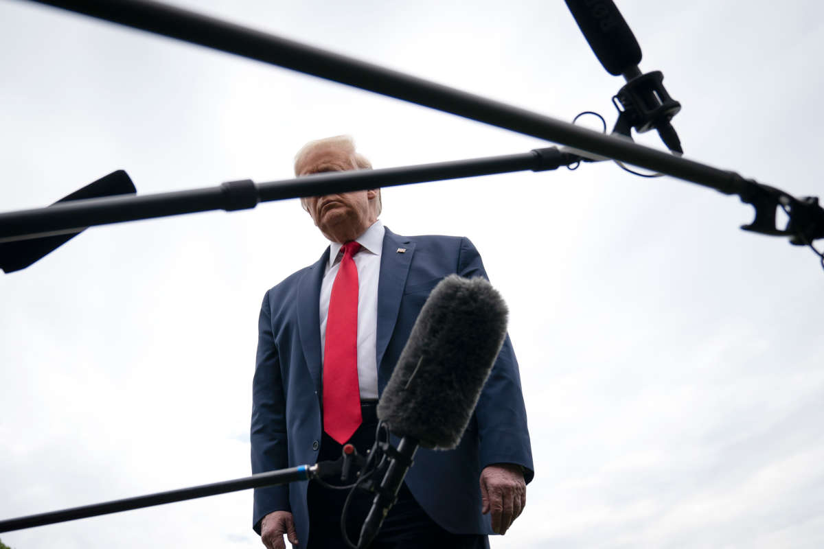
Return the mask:
[[[563,2],[176,4],[571,120],[611,105]],[[686,156],[821,195],[824,8],[619,0]],[[350,133],[376,167],[546,144],[278,67],[0,0],[0,210],[117,169],[139,193],[291,175]],[[653,134],[639,141],[658,146]],[[511,309],[536,477],[504,547],[824,546],[824,272],[751,207],[616,165],[388,188],[466,235]],[[264,292],[325,240],[297,201],[87,230],[0,276],[0,519],[250,473]],[[262,547],[251,492],[0,535],[15,549]]]

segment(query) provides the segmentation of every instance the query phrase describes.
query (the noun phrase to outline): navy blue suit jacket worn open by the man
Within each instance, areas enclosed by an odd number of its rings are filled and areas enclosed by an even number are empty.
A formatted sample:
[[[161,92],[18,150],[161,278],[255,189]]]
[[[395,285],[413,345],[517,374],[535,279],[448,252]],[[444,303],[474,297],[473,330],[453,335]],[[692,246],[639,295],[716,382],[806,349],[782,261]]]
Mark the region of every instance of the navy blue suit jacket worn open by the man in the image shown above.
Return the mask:
[[[397,249],[405,249],[398,253]],[[252,384],[252,472],[316,463],[321,440],[319,300],[328,249],[313,265],[274,286],[260,310]],[[386,229],[378,279],[377,385],[382,393],[429,292],[443,277],[486,277],[475,246],[452,236],[400,236]],[[396,441],[397,442],[397,441]],[[429,516],[452,533],[492,533],[480,513],[480,472],[517,463],[532,478],[521,380],[509,337],[503,343],[461,444],[419,449],[406,485]],[[308,542],[307,482],[255,489],[253,524],[291,511],[297,539]],[[304,545],[305,547],[305,545]]]

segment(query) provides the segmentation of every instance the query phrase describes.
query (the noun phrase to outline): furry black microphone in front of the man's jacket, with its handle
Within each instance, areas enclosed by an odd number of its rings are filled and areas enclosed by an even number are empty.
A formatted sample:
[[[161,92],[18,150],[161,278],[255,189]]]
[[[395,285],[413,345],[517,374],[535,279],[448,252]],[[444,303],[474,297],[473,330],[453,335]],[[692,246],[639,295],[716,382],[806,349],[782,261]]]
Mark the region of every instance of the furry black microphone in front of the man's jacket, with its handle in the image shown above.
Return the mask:
[[[361,529],[368,547],[395,503],[419,446],[461,442],[507,333],[508,309],[484,278],[450,275],[435,286],[414,323],[377,404],[377,417],[400,436]]]

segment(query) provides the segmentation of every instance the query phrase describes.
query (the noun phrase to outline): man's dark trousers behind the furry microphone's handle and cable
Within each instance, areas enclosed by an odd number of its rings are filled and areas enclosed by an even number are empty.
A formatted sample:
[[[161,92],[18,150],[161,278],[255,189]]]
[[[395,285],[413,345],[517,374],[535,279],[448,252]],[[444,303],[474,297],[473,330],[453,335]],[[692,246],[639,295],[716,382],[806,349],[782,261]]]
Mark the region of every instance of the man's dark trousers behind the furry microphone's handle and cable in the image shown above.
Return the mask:
[[[363,424],[349,440],[358,449],[358,454],[366,455],[375,442],[377,416],[374,403],[361,407]],[[323,434],[319,461],[340,457],[341,445],[329,435]],[[340,479],[327,481],[342,484]],[[352,482],[351,480],[349,482]],[[348,490],[332,490],[316,482],[309,483],[309,546],[307,549],[349,549],[340,534],[340,517]],[[358,544],[363,520],[372,508],[372,496],[364,491],[356,492],[349,502],[346,528],[349,540]],[[414,500],[404,484],[398,493],[397,503],[390,509],[383,521],[380,532],[370,549],[484,549],[489,547],[486,536],[462,535],[447,532],[430,519]]]

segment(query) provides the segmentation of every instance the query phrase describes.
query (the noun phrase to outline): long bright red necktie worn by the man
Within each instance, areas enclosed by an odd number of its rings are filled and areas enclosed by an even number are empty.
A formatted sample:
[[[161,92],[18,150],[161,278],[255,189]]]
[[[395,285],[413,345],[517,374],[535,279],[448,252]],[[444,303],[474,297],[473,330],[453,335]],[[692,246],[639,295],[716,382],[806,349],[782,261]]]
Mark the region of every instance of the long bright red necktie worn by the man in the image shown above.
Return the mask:
[[[360,244],[344,244],[329,298],[323,355],[323,430],[344,444],[363,419],[358,387],[358,268]]]

